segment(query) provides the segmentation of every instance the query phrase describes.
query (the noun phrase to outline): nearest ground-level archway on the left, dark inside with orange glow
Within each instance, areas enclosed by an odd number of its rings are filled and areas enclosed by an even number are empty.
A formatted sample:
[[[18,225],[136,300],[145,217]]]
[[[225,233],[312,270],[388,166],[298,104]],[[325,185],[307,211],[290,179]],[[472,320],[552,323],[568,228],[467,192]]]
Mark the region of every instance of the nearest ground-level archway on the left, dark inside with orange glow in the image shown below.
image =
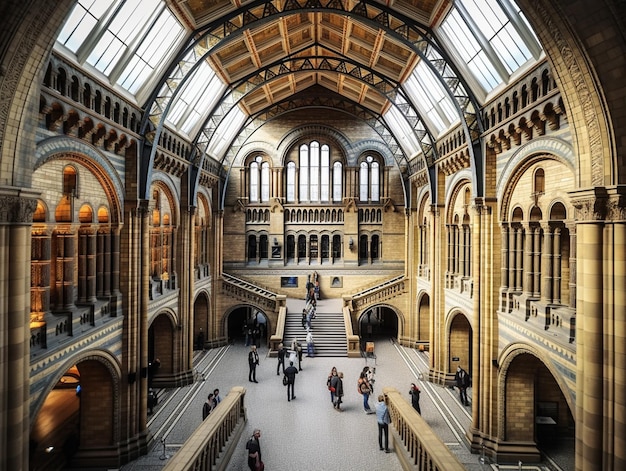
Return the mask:
[[[96,359],[69,368],[48,393],[30,432],[30,466],[60,470],[80,465],[81,452],[112,450],[109,463],[118,465],[116,420],[119,391],[111,370]]]

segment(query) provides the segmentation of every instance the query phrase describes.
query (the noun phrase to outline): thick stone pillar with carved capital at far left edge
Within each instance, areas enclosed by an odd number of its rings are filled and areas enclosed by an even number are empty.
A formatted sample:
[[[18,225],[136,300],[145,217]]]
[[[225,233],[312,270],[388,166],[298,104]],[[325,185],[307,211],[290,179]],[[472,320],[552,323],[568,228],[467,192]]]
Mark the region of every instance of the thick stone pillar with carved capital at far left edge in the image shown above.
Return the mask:
[[[36,200],[0,189],[0,455],[4,469],[28,469],[31,224]]]

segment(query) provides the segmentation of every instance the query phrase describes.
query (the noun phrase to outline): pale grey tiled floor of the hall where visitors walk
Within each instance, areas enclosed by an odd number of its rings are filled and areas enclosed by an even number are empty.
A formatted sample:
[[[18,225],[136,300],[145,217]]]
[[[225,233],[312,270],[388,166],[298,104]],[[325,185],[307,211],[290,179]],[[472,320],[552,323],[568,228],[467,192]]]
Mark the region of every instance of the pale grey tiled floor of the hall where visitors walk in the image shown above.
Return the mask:
[[[282,375],[276,375],[277,360],[266,356],[265,347],[259,349],[258,383],[248,382],[249,348],[243,344],[198,353],[195,357],[196,369],[199,377],[204,374],[205,380],[171,390],[161,398],[149,423],[155,436],[152,452],[121,469],[160,470],[168,460],[173,459],[178,447],[200,424],[202,403],[207,394],[219,388],[224,396],[233,386],[244,386],[247,390],[248,423],[237,445],[238,451],[229,463],[229,470],[247,469],[245,442],[255,428],[261,429],[263,461],[268,471],[400,470],[393,450],[389,454],[379,451],[376,416],[364,413],[362,397],[356,390],[359,372],[366,364],[376,367],[376,393],[383,387],[394,387],[409,401],[410,383],[420,385],[424,419],[457,454],[466,469],[498,469],[480,463],[480,456],[468,451],[464,431],[470,425],[471,407],[460,405],[455,390],[418,377],[420,372],[428,370],[427,354],[404,349],[388,339],[373,340],[376,345],[375,360],[305,357],[303,371],[296,378],[296,399],[291,402],[287,401]],[[333,409],[326,388],[326,378],[332,366],[344,372],[346,395],[343,413]],[[374,406],[374,398],[370,399],[370,405]],[[524,469],[548,468],[524,466]]]

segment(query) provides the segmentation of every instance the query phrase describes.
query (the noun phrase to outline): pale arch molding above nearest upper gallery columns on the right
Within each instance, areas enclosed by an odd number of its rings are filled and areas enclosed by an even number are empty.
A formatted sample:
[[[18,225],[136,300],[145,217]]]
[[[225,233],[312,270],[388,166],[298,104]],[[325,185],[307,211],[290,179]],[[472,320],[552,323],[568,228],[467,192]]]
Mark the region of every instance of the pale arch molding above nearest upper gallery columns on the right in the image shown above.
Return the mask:
[[[524,172],[542,160],[551,159],[576,173],[575,156],[570,145],[561,139],[539,139],[521,147],[506,163],[496,186],[496,198],[501,201],[500,220],[506,219],[511,205],[511,195]]]

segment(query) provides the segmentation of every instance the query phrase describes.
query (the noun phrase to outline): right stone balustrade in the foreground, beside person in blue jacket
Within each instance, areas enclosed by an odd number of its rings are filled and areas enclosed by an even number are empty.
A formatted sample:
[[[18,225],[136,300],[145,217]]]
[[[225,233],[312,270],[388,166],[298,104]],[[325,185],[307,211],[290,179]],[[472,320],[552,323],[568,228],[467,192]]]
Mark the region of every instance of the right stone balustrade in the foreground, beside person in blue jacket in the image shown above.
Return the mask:
[[[395,388],[383,388],[391,423],[396,433],[396,451],[404,469],[464,471],[465,467],[433,432],[426,421]]]

